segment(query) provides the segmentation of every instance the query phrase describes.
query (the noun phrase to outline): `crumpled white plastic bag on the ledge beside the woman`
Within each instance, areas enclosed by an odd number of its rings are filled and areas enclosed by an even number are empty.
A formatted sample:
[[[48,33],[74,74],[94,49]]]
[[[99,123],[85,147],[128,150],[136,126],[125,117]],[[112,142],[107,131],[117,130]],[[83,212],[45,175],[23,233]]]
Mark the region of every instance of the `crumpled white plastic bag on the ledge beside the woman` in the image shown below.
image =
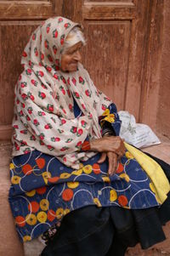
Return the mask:
[[[128,111],[119,111],[118,114],[122,121],[120,137],[127,143],[138,148],[161,143],[148,125],[136,123],[135,117]]]

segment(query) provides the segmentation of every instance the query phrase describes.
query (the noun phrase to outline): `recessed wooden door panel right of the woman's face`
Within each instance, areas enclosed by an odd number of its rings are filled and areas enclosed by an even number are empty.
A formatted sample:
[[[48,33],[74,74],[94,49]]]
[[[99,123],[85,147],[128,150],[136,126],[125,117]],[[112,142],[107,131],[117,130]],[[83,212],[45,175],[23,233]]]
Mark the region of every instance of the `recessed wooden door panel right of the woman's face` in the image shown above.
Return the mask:
[[[127,84],[129,21],[86,21],[85,66],[97,88],[124,108]],[[94,64],[95,63],[95,64]]]

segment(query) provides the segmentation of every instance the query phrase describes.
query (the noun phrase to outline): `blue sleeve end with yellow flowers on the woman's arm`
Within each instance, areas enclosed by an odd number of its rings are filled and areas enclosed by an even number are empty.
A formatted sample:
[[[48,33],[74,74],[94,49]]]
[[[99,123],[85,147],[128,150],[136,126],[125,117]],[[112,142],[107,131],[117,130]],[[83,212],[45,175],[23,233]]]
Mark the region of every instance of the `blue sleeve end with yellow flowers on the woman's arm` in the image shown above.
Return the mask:
[[[104,129],[106,122],[111,123],[113,132],[118,136],[121,128],[121,120],[117,114],[116,105],[113,103],[111,103],[111,105],[109,105],[103,112],[102,116],[99,117],[99,124],[102,129]]]

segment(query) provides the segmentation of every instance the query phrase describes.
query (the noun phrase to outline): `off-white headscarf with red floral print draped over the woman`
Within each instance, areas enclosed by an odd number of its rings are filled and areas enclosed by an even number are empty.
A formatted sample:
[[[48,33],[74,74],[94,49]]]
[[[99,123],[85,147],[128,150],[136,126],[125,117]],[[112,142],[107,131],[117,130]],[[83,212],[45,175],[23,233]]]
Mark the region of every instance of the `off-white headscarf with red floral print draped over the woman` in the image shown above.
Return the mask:
[[[65,38],[78,26],[55,17],[31,35],[21,63],[24,71],[15,86],[13,156],[37,149],[79,168],[93,152],[80,152],[89,135],[100,138],[99,116],[111,101],[99,93],[81,64],[75,72],[59,70]],[[83,116],[75,117],[73,97]]]

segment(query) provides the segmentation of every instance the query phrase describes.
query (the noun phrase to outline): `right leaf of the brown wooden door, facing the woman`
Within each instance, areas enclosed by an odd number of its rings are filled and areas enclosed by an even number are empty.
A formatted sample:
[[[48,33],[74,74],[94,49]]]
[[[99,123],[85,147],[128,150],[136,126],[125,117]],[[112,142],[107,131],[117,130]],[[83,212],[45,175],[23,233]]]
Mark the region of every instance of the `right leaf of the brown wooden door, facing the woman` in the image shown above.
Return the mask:
[[[81,21],[83,62],[96,86],[139,120],[150,1],[64,0],[63,14]]]

